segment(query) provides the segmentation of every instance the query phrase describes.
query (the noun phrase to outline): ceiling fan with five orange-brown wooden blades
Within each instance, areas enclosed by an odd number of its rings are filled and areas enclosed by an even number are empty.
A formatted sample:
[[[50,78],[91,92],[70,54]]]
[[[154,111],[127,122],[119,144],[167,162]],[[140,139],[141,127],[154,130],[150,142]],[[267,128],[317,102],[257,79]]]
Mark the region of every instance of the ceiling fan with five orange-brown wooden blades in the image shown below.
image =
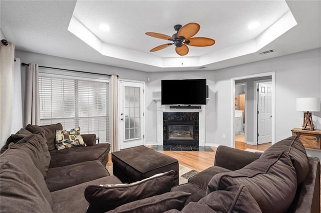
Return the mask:
[[[157,37],[165,40],[171,40],[173,43],[165,43],[159,46],[156,46],[149,51],[154,52],[161,49],[164,49],[170,45],[175,44],[176,53],[179,55],[186,55],[189,53],[190,46],[211,46],[215,43],[215,40],[208,37],[193,37],[199,30],[201,26],[198,23],[188,23],[182,27],[181,24],[174,26],[174,29],[177,31],[173,36],[169,36],[157,32],[145,32],[146,35]]]

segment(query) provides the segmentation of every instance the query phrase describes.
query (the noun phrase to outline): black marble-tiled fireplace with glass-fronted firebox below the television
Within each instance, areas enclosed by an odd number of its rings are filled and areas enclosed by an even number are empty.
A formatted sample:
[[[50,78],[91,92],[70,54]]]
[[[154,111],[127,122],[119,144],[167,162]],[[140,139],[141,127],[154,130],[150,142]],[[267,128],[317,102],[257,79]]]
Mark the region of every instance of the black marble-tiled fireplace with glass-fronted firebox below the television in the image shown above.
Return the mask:
[[[164,112],[163,145],[199,145],[198,112]]]

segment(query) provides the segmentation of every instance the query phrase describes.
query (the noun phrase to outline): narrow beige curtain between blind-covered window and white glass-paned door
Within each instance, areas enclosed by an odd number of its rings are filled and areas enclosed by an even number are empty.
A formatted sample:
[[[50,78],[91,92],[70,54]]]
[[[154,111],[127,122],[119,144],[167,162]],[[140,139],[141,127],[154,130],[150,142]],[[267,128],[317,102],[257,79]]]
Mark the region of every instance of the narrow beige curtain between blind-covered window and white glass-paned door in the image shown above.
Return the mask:
[[[110,111],[111,111],[111,152],[118,151],[118,79],[117,75],[110,77]]]

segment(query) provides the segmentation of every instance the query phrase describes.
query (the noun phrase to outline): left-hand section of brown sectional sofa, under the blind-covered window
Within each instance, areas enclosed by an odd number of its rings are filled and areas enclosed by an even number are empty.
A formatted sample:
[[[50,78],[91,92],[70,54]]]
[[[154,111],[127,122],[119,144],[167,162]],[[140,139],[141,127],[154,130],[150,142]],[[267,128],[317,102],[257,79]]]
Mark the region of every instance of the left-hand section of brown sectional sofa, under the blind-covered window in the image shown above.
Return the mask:
[[[0,155],[2,212],[85,212],[88,184],[121,183],[105,168],[109,143],[83,134],[87,146],[49,150],[56,129],[62,125],[28,125],[8,138]]]

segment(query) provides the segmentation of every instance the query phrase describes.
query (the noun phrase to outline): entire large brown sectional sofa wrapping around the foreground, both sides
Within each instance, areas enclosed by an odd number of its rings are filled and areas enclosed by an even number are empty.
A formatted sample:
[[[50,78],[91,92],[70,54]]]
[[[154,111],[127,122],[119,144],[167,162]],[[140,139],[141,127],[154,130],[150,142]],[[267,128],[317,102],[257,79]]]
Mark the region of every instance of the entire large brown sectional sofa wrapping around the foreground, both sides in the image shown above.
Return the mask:
[[[45,132],[27,135],[28,142],[24,142],[32,146],[16,141],[2,150],[2,211],[86,212],[89,203],[84,192],[89,185],[121,183],[104,167],[109,144],[95,145],[95,138],[88,135],[86,143],[92,142],[86,147],[48,151],[49,145],[42,139]],[[17,133],[11,139],[19,138]],[[48,154],[30,154],[34,147],[38,152],[49,152],[50,163]],[[43,163],[38,163],[41,157]],[[170,204],[182,196],[183,209]],[[302,143],[293,136],[275,143],[263,154],[219,146],[214,166],[191,177],[188,183],[172,187],[171,192],[125,203],[110,212],[320,212],[319,198],[319,159],[307,157]],[[179,201],[182,203],[182,199]]]

